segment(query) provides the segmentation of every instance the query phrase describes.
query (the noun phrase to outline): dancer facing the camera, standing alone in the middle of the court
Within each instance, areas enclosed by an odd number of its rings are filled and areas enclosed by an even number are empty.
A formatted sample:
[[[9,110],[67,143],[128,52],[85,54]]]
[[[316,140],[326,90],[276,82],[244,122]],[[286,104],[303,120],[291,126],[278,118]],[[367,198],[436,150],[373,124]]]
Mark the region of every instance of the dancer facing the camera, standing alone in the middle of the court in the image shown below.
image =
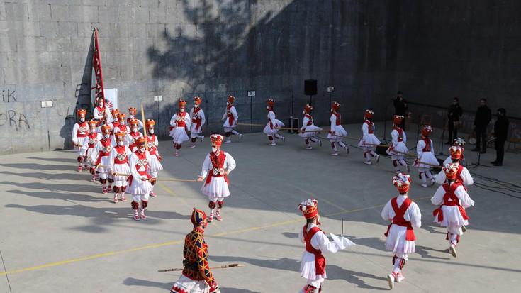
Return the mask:
[[[223,143],[223,136],[212,134],[210,139],[212,152],[206,155],[201,175],[197,178],[197,181],[201,182],[204,177],[208,175],[201,188],[201,192],[203,192],[209,200],[208,207],[210,208],[210,216],[208,216],[208,222],[213,221],[213,211],[215,208],[217,208],[217,211],[215,211],[215,219],[218,219],[218,221],[223,219],[220,215],[220,209],[223,208],[224,198],[230,195],[227,176],[235,169],[235,160],[233,160],[233,157],[229,153],[220,150],[220,145]]]

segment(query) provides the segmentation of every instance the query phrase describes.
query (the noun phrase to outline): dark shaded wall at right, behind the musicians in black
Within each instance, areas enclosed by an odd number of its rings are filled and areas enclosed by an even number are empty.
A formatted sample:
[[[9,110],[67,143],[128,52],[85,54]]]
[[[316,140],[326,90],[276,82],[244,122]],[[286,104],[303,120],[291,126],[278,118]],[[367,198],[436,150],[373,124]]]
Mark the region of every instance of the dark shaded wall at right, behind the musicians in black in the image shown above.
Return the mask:
[[[472,112],[486,98],[493,114],[504,107],[510,116],[521,116],[520,1],[396,4],[398,87],[404,97],[448,108],[458,96],[463,109]]]

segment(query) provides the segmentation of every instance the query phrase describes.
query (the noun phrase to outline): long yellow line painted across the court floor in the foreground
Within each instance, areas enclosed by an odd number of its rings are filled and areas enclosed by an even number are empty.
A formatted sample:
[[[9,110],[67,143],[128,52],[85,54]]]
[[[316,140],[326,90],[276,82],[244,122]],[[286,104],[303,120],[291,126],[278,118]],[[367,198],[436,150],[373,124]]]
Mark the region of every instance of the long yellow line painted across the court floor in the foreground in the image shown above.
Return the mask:
[[[165,189],[168,189],[168,188],[165,187]],[[170,192],[172,192],[172,191],[170,191]],[[173,194],[173,192],[172,192],[172,194]],[[418,199],[426,199],[426,198],[428,198],[428,197],[420,197]],[[369,206],[369,207],[361,208],[361,209],[344,210],[344,211],[340,211],[340,212],[335,213],[335,214],[327,214],[327,215],[325,215],[325,217],[336,216],[336,215],[339,215],[339,214],[347,214],[347,213],[351,213],[351,212],[354,212],[354,211],[364,211],[364,210],[367,210],[367,209],[376,209],[376,208],[381,207],[381,206],[385,206],[385,204],[380,204],[378,206]],[[271,228],[271,227],[275,227],[275,226],[286,225],[288,223],[297,223],[297,222],[301,222],[301,221],[303,221],[303,220],[300,220],[300,219],[299,220],[291,220],[291,221],[284,221],[284,222],[279,222],[279,223],[272,223],[272,224],[266,225],[266,226],[257,226],[257,227],[252,227],[252,228],[246,228],[246,229],[237,230],[237,231],[215,233],[215,234],[210,235],[210,237],[220,237],[220,236],[226,236],[226,235],[230,235],[230,234],[237,234],[237,233],[244,233],[244,232],[250,232],[250,231],[257,231],[257,230],[264,229],[264,228]],[[142,249],[147,249],[147,248],[158,248],[158,247],[167,246],[167,245],[176,245],[176,244],[179,244],[179,243],[184,243],[184,240],[167,242],[167,243],[159,243],[159,244],[154,244],[154,245],[146,245],[146,246],[141,246],[141,247],[138,247],[138,248],[129,248],[129,249],[125,249],[125,250],[114,251],[114,252],[111,252],[111,253],[101,253],[99,255],[86,256],[84,258],[74,258],[72,260],[63,260],[61,262],[52,262],[52,263],[48,263],[46,265],[38,265],[38,266],[35,266],[35,267],[26,267],[26,268],[23,268],[23,269],[20,269],[20,270],[11,270],[9,272],[0,272],[0,276],[14,274],[14,273],[17,273],[17,272],[27,272],[27,271],[30,271],[30,270],[39,270],[39,269],[42,269],[42,268],[45,268],[45,267],[54,267],[56,265],[65,265],[67,263],[80,262],[80,261],[83,261],[83,260],[92,260],[94,258],[103,258],[105,256],[118,255],[118,254],[121,254],[121,253],[130,253],[130,252],[133,252],[133,251],[136,251],[136,250],[142,250]]]

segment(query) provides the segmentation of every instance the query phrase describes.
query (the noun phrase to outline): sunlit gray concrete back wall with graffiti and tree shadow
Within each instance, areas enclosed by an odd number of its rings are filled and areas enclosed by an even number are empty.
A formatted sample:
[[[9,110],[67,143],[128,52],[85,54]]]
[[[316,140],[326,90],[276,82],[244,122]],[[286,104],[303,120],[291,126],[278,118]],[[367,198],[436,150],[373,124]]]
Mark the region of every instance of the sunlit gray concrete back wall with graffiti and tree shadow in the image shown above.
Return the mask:
[[[383,96],[396,91],[392,9],[381,1],[2,1],[0,154],[70,147],[75,109],[90,108],[94,26],[105,88],[118,89],[120,109],[143,104],[163,137],[181,96],[203,96],[210,123],[228,94],[245,123],[264,123],[268,98],[286,121],[293,96],[301,116],[305,79],[318,79],[316,123],[327,122],[326,87],[335,87],[344,121],[370,106],[381,113]],[[252,115],[248,90],[257,92]]]

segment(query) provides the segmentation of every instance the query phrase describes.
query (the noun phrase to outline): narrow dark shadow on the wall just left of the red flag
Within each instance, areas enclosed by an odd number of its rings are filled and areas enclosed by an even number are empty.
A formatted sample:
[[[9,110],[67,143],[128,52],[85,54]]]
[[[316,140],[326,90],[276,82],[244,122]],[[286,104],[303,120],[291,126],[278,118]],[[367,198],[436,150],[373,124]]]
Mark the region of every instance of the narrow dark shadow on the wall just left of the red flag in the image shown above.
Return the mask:
[[[60,129],[60,138],[64,138],[63,149],[72,149],[72,128],[77,122],[76,111],[77,109],[85,109],[86,116],[85,120],[88,121],[92,117],[92,104],[91,104],[91,84],[92,84],[92,48],[94,48],[94,32],[92,33],[90,50],[86,56],[85,69],[83,71],[82,83],[76,85],[76,91],[74,92],[74,98],[76,99],[76,106],[72,114],[67,113],[65,117],[65,123]],[[60,150],[57,148],[55,150]]]

